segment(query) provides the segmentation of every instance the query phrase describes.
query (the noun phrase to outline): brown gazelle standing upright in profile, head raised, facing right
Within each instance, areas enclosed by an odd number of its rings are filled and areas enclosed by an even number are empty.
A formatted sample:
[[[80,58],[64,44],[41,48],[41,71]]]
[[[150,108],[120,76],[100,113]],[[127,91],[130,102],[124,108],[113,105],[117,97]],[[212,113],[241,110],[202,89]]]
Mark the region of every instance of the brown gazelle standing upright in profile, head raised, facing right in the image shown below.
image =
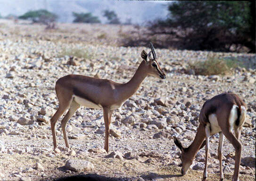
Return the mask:
[[[65,144],[66,147],[69,148],[66,135],[66,123],[74,115],[80,105],[82,105],[94,109],[103,109],[105,123],[104,148],[108,152],[109,126],[113,110],[121,107],[124,101],[130,98],[136,90],[139,89],[141,82],[147,75],[165,79],[165,74],[157,62],[157,56],[152,43],[150,46],[151,51],[149,55],[144,50],[141,52],[141,58],[143,58],[143,60],[132,79],[127,83],[116,83],[107,79],[74,74],[66,75],[58,79],[55,90],[59,100],[59,107],[50,120],[54,150],[57,148],[55,124],[58,118],[69,108],[67,114],[61,120]],[[153,55],[153,58],[151,55]]]

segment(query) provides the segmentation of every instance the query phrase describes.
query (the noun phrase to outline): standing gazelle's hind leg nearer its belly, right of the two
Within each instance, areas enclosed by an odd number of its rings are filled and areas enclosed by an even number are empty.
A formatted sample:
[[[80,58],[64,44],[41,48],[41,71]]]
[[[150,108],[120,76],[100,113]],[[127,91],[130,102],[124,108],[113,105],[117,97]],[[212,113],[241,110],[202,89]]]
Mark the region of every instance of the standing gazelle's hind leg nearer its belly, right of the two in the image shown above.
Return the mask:
[[[80,107],[80,104],[75,102],[74,100],[71,102],[70,108],[64,118],[61,120],[61,129],[63,132],[63,137],[65,140],[66,148],[69,148],[68,140],[67,140],[67,135],[66,135],[66,123],[68,120],[74,115],[75,111]]]

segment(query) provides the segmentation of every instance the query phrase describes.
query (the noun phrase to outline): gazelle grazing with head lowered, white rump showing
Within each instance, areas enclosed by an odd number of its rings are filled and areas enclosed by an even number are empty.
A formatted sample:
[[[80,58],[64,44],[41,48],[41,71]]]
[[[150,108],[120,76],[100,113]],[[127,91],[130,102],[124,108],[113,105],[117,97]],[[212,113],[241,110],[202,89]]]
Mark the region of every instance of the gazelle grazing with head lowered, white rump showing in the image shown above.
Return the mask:
[[[199,115],[199,126],[193,142],[188,148],[183,148],[182,144],[174,137],[175,145],[181,149],[182,175],[186,174],[192,165],[199,149],[206,145],[206,159],[203,181],[207,178],[207,159],[209,149],[209,137],[219,133],[218,156],[220,162],[220,181],[223,181],[222,170],[222,146],[224,136],[235,148],[235,171],[232,181],[238,181],[239,165],[241,160],[242,145],[239,142],[241,129],[245,122],[246,105],[238,95],[233,93],[223,93],[207,100],[203,105]],[[234,134],[232,133],[234,132]],[[224,135],[224,136],[223,136]],[[205,141],[204,141],[205,140]]]

